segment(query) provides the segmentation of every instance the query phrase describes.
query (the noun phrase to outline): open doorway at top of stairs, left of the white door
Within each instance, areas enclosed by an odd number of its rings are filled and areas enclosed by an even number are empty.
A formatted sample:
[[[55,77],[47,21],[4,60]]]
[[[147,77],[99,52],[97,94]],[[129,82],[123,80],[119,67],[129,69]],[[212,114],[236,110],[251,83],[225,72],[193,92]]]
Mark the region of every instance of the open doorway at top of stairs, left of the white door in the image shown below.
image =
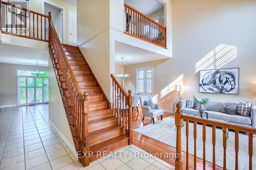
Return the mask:
[[[64,42],[64,27],[63,27],[63,8],[44,2],[44,13],[48,15],[51,12],[53,26],[57,32],[60,42]]]

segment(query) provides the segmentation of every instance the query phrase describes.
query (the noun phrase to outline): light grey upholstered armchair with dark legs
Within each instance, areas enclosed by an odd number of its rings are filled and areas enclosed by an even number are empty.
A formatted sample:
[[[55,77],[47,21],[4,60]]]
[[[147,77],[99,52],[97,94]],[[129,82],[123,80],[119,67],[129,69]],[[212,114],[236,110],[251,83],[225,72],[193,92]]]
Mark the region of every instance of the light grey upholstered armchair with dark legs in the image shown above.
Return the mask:
[[[145,116],[150,117],[153,120],[153,124],[155,124],[155,117],[161,116],[161,120],[163,120],[163,110],[160,109],[159,104],[154,104],[155,108],[151,109],[150,106],[145,106],[145,101],[150,101],[152,100],[152,95],[142,95],[140,96],[140,103],[141,103],[141,108],[142,108],[142,114],[143,114],[143,119],[144,120]]]

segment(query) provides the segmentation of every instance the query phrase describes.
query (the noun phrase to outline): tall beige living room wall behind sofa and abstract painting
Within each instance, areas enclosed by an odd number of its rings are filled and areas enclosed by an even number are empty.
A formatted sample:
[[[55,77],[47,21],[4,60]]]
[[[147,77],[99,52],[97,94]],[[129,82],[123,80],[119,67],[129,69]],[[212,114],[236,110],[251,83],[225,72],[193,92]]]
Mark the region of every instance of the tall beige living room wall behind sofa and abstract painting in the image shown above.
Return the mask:
[[[210,101],[256,104],[256,1],[203,0],[173,1],[173,58],[125,66],[130,74],[126,79],[129,89],[135,89],[135,69],[154,66],[154,95],[164,109],[172,110],[177,101],[175,85],[185,85],[182,98],[196,95]],[[213,57],[197,63],[220,44],[237,48],[232,60],[217,60]],[[212,65],[206,65],[211,63]],[[199,69],[240,67],[240,94],[207,94],[198,92]]]

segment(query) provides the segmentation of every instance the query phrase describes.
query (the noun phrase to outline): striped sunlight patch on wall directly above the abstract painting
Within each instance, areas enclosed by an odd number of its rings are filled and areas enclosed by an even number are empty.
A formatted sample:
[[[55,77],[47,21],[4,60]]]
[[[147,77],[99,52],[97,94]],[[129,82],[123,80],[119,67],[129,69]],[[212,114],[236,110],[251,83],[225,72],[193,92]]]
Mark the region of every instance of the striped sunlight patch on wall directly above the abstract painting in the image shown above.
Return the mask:
[[[237,47],[220,44],[195,65],[195,74],[199,70],[218,69],[237,57]]]

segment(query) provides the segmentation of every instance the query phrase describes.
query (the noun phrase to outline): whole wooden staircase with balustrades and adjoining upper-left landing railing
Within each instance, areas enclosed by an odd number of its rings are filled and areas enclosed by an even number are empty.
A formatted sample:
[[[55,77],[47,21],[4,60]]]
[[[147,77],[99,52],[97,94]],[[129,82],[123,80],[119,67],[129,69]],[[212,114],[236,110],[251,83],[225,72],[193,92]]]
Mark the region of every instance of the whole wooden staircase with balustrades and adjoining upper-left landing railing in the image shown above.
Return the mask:
[[[12,17],[6,17],[6,28],[2,29],[2,8],[16,11],[16,18],[18,16],[20,20],[25,21],[24,28],[18,26],[22,32],[17,31],[16,22],[11,27],[8,26],[7,23],[13,23]],[[21,12],[17,13],[17,10]],[[31,19],[32,16],[37,18],[36,22]],[[41,21],[39,26],[38,18]],[[29,21],[29,24],[26,21]],[[132,144],[131,90],[128,95],[115,77],[110,75],[113,85],[113,99],[110,103],[79,48],[61,44],[50,12],[49,15],[44,15],[0,0],[0,31],[4,34],[49,42],[49,53],[63,107],[78,159],[83,166],[88,166],[90,162],[105,156],[103,154]],[[49,34],[46,31],[49,31]]]

